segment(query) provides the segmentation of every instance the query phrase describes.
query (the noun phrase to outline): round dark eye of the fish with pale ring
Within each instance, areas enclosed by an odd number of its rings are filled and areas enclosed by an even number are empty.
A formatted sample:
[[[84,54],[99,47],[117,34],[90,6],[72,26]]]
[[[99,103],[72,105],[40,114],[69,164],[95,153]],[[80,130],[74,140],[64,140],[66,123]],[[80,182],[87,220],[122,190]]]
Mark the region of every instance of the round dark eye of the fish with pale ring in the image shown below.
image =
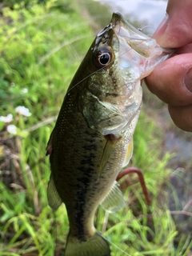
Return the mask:
[[[94,66],[96,66],[98,69],[101,69],[102,67],[109,65],[112,61],[112,58],[113,54],[109,49],[99,49],[94,54]]]

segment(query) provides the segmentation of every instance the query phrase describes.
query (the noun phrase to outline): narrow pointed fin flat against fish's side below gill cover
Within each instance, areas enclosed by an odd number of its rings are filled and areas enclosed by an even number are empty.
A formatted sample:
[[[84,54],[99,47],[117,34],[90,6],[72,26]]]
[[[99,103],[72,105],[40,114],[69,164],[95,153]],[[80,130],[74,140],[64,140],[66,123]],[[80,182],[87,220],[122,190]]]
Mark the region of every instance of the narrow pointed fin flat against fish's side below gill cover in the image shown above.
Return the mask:
[[[117,138],[114,134],[108,134],[105,136],[106,138],[106,146],[104,147],[103,153],[102,153],[102,160],[99,166],[99,176],[102,174],[102,171],[104,170],[106,163],[108,162],[110,155],[112,154],[114,147],[118,143],[118,141],[121,139],[121,137]]]

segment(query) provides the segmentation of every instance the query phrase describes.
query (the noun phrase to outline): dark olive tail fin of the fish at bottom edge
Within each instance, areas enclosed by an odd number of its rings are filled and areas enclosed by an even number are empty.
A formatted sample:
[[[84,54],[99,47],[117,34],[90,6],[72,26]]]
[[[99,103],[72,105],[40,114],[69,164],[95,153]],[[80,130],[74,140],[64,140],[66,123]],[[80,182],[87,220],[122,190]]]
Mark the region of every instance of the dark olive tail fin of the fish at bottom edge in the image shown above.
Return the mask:
[[[110,256],[110,246],[98,232],[85,242],[80,242],[69,235],[65,256]]]

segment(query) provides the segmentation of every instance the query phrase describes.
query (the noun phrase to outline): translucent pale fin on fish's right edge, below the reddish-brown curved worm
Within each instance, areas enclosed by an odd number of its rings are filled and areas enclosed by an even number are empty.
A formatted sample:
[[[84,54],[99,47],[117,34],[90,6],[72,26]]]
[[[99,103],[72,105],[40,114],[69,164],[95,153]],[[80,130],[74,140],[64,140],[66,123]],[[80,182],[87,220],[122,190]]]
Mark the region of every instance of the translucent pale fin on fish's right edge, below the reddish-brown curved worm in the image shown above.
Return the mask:
[[[118,188],[118,182],[114,182],[110,192],[106,194],[100,205],[109,213],[114,213],[125,206],[125,200],[122,191]]]

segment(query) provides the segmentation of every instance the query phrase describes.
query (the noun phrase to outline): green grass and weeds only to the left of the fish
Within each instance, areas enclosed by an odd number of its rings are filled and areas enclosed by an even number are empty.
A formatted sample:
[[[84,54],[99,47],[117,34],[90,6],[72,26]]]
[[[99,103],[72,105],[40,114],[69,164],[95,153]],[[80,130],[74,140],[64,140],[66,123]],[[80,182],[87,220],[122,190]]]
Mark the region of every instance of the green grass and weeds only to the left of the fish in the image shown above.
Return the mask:
[[[75,8],[47,1],[2,9],[0,104],[4,119],[12,118],[1,122],[1,255],[14,248],[14,255],[52,256],[67,232],[65,207],[54,214],[47,206],[45,154],[66,88],[92,41],[92,30]],[[18,113],[18,106],[30,115]]]

